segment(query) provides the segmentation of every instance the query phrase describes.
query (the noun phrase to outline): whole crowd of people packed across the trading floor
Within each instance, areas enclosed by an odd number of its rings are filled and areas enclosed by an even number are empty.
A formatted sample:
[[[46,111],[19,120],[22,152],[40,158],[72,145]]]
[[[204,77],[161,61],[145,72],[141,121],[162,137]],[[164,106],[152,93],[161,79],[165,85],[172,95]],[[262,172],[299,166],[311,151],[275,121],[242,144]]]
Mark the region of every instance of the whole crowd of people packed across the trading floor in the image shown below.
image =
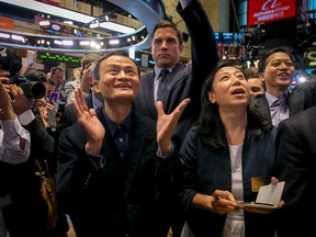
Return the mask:
[[[27,68],[23,78],[45,88],[27,98],[0,70],[1,236],[66,237],[68,218],[78,237],[313,233],[316,83],[291,89],[295,58],[284,47],[257,68],[221,60],[200,0],[177,11],[191,37],[185,67],[182,34],[163,20],[143,76],[124,50],[88,54],[69,80],[59,66]],[[58,224],[45,232],[35,160],[56,177]],[[255,178],[285,181],[278,207],[237,204],[256,201]]]

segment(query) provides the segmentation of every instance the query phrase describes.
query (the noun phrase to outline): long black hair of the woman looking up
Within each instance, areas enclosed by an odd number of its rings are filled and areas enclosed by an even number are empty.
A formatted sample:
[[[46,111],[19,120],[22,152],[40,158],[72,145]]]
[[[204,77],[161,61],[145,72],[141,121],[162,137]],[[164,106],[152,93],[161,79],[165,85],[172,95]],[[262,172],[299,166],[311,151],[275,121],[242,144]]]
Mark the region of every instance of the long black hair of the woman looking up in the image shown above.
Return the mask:
[[[207,76],[201,94],[201,113],[198,122],[194,124],[196,132],[202,142],[213,148],[223,148],[226,142],[225,126],[221,120],[218,112],[218,104],[211,103],[208,100],[208,92],[213,91],[213,82],[216,72],[223,67],[236,67],[228,61],[219,61],[215,68]],[[244,71],[239,69],[242,74]],[[247,106],[248,126],[253,127],[253,136],[260,137],[264,132],[272,128],[271,122],[264,120],[259,112],[251,105],[251,102]]]

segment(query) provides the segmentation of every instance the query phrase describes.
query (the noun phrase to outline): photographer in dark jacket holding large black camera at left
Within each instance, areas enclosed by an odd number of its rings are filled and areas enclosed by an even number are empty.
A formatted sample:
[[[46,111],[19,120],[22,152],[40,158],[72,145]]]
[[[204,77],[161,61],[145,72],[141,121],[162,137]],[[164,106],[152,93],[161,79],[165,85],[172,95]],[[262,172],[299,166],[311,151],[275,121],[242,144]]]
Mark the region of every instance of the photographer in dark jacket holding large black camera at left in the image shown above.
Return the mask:
[[[36,117],[32,109],[35,106],[36,98],[45,95],[46,89],[43,83],[29,81],[21,76],[19,74],[21,69],[21,67],[19,69],[19,64],[21,65],[21,63],[10,54],[10,50],[9,53],[8,49],[2,50],[0,52],[0,75],[5,75],[9,78],[1,78],[1,81],[9,82],[8,84],[1,83],[8,92],[8,105],[3,105],[5,109],[1,108],[2,100],[0,102],[0,109],[3,112],[2,116],[4,114],[5,116],[8,115],[9,111],[7,108],[12,108],[11,116],[18,117],[23,126],[19,131],[26,129],[31,137],[29,143],[31,142],[32,144],[27,156],[21,163],[0,162],[0,169],[4,170],[4,172],[0,172],[0,183],[7,188],[7,192],[11,195],[11,203],[2,206],[5,227],[10,237],[61,237],[67,233],[69,226],[65,226],[63,230],[40,232],[40,229],[43,229],[47,204],[38,188],[41,185],[38,185],[38,179],[35,176],[34,162],[35,159],[40,162],[44,162],[45,159],[53,160],[56,144],[43,125],[42,119]],[[40,86],[34,87],[34,84]],[[40,90],[37,90],[38,88]],[[0,119],[2,119],[1,115]],[[12,135],[11,133],[13,131],[9,131],[10,135]],[[14,157],[8,154],[8,160],[12,161]],[[10,172],[5,172],[5,170],[9,170],[8,167]]]

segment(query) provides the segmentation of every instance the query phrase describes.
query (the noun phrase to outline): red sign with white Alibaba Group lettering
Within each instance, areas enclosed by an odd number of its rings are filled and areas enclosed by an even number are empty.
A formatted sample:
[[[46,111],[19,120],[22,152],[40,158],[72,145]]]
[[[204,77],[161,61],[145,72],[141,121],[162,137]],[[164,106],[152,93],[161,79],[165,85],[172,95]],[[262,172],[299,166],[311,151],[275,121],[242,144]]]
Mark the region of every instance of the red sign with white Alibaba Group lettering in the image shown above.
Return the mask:
[[[293,18],[295,13],[296,0],[249,0],[248,26]]]

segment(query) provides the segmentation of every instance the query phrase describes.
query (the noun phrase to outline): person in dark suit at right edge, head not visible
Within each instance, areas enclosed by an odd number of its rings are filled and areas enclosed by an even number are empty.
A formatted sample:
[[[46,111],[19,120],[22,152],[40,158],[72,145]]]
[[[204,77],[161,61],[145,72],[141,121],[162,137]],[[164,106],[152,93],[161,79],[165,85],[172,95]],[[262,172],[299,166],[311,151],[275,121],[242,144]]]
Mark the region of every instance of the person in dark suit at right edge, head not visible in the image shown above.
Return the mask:
[[[316,166],[316,106],[280,123],[276,135],[274,176],[285,181],[284,207],[278,211],[278,237],[311,236],[315,232],[306,210],[316,211],[314,202]]]

